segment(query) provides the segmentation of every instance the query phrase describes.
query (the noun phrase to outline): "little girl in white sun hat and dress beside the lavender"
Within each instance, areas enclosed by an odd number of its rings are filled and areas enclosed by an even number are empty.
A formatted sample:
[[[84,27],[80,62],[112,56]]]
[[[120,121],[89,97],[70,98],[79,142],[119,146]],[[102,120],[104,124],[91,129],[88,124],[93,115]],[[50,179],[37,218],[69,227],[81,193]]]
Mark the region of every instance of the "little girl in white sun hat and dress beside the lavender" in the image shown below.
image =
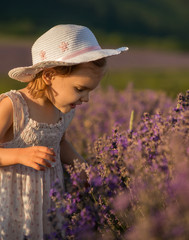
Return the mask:
[[[66,129],[99,84],[106,57],[125,50],[102,49],[87,27],[57,25],[33,44],[32,66],[9,72],[28,85],[0,95],[1,240],[42,240],[52,231],[52,183],[59,179],[64,189],[61,164],[84,161]]]

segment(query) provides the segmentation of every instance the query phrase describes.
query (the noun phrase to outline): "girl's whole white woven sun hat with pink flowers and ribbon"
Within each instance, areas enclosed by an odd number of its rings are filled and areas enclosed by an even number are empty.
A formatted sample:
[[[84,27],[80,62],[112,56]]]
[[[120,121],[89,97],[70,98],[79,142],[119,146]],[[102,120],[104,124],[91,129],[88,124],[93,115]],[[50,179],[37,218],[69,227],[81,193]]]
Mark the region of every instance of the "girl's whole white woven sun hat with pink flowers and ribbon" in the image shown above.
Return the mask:
[[[34,42],[33,65],[13,68],[8,75],[21,82],[30,82],[45,68],[87,63],[118,55],[126,50],[127,47],[102,49],[87,27],[73,24],[57,25]]]

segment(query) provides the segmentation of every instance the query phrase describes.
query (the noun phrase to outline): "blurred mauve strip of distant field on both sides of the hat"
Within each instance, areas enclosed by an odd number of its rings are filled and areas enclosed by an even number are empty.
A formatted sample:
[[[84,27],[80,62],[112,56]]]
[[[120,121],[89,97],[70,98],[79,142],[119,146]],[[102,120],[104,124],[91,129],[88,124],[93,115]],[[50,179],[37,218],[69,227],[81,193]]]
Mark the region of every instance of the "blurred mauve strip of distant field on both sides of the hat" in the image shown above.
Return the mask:
[[[31,46],[0,45],[0,74],[14,67],[31,65]],[[170,53],[130,48],[128,52],[109,58],[110,69],[188,68],[189,53]]]

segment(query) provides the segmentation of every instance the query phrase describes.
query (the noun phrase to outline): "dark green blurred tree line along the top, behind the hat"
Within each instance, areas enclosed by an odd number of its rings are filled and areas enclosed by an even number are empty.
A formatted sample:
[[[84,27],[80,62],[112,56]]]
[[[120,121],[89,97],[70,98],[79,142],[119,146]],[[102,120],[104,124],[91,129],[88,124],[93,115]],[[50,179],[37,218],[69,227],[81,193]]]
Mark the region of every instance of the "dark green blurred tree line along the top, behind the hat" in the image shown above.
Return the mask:
[[[171,39],[189,49],[188,0],[3,1],[0,33],[30,36],[59,23],[77,23],[125,41]],[[112,35],[112,36],[113,36]]]

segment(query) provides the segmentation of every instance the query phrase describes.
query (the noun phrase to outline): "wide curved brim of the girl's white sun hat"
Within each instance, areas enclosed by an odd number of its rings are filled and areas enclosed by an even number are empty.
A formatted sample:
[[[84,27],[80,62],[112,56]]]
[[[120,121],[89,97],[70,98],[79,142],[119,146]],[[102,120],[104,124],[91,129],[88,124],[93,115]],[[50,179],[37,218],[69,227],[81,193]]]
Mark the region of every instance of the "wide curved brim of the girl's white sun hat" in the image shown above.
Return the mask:
[[[121,52],[124,52],[127,50],[128,50],[127,47],[121,47],[118,49],[94,50],[94,51],[80,54],[78,56],[75,56],[69,59],[60,58],[56,61],[43,61],[43,62],[34,64],[32,66],[13,68],[8,72],[8,75],[10,78],[18,80],[20,82],[30,82],[35,78],[37,73],[41,72],[46,68],[52,68],[57,66],[72,66],[72,65],[77,65],[81,63],[87,63],[87,62],[95,61],[104,57],[118,55]]]

